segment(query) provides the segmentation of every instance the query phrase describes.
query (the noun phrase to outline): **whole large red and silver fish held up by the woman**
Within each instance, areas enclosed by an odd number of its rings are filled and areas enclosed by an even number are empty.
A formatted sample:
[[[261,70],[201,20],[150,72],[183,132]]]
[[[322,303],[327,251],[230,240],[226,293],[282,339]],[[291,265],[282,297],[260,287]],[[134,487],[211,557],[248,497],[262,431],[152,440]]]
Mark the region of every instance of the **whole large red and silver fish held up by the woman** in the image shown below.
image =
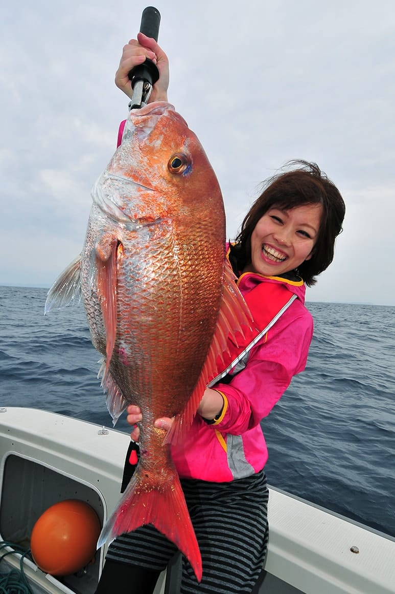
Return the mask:
[[[152,524],[200,581],[198,542],[154,421],[176,415],[166,441],[182,440],[228,334],[249,325],[224,264],[221,190],[196,135],[173,106],[157,102],[130,112],[92,195],[84,248],[50,289],[46,311],[82,296],[114,424],[129,403],[144,419],[139,465],[98,546]]]

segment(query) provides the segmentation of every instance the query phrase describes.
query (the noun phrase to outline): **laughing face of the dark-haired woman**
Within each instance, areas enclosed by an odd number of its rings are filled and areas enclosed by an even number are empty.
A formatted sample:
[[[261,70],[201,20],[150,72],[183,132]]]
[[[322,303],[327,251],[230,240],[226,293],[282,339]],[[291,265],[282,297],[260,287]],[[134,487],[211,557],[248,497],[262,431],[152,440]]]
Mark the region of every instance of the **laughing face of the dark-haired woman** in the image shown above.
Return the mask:
[[[279,276],[310,260],[317,241],[321,204],[270,208],[251,234],[251,263],[243,272]]]

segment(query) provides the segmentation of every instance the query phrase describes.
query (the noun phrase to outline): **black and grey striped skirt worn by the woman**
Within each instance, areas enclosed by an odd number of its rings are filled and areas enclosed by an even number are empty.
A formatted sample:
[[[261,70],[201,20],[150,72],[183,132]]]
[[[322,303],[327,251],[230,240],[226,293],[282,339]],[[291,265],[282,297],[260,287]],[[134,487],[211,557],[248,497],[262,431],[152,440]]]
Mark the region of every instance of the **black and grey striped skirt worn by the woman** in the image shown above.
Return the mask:
[[[214,483],[183,479],[181,485],[200,553],[200,584],[183,557],[180,594],[249,594],[266,557],[266,475]],[[164,570],[176,546],[153,526],[142,526],[119,536],[109,547],[107,559]]]

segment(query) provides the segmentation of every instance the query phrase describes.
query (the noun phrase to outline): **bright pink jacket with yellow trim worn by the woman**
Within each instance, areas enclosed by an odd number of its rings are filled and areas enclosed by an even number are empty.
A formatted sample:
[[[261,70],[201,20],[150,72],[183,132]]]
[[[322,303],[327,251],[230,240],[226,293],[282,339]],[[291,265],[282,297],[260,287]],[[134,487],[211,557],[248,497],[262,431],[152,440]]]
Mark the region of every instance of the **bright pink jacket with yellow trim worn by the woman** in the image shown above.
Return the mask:
[[[181,478],[226,482],[262,470],[267,448],[260,421],[280,399],[292,376],[305,368],[313,318],[304,306],[304,283],[246,273],[238,287],[246,295],[257,283],[285,283],[298,299],[251,349],[246,367],[230,383],[215,385],[225,401],[218,421],[208,425],[196,415],[182,447],[171,447]]]

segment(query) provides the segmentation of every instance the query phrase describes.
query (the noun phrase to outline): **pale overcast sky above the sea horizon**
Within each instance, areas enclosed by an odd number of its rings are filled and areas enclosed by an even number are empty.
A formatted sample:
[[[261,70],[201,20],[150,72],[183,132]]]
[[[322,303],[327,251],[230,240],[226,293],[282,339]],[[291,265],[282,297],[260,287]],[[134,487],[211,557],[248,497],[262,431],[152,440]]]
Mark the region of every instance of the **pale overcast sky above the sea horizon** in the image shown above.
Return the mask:
[[[0,24],[0,284],[49,287],[81,251],[128,99],[136,0],[20,0]],[[198,134],[233,238],[263,179],[315,161],[346,202],[308,301],[395,305],[395,2],[158,0],[169,99]]]

